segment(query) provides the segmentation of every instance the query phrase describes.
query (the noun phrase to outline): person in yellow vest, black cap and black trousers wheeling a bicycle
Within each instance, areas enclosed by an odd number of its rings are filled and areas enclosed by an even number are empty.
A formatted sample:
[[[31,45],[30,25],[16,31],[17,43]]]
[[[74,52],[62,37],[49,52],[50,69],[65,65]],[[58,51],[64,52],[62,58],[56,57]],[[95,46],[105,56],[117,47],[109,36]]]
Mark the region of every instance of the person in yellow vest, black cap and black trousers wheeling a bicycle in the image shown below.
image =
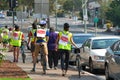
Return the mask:
[[[70,26],[68,23],[64,23],[64,30],[58,33],[58,39],[57,39],[57,43],[58,43],[57,48],[61,58],[62,76],[65,76],[68,70],[71,45],[74,45],[76,48],[78,48],[73,41],[72,33],[69,32],[69,27]]]

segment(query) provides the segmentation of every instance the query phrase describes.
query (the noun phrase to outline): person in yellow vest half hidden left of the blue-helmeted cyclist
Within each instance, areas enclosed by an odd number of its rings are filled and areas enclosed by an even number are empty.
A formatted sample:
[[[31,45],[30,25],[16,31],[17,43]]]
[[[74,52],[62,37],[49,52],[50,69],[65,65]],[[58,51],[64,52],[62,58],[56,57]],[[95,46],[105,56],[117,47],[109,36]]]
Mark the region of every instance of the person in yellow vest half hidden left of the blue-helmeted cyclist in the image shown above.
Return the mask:
[[[30,30],[30,32],[28,33],[28,45],[30,44],[31,48],[31,53],[32,53],[32,59],[33,59],[33,52],[35,50],[35,32],[36,32],[36,29],[37,29],[37,25],[35,23],[32,24],[32,30]]]

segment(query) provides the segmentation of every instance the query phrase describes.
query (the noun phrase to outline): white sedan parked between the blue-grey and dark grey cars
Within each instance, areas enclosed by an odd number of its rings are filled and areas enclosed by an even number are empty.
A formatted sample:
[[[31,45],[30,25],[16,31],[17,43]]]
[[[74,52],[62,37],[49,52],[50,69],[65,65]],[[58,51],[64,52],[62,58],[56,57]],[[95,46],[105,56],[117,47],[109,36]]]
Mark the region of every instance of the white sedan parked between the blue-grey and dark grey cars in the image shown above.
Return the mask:
[[[117,36],[92,37],[85,41],[80,48],[82,68],[89,67],[90,72],[95,69],[104,69],[106,48],[120,40]]]

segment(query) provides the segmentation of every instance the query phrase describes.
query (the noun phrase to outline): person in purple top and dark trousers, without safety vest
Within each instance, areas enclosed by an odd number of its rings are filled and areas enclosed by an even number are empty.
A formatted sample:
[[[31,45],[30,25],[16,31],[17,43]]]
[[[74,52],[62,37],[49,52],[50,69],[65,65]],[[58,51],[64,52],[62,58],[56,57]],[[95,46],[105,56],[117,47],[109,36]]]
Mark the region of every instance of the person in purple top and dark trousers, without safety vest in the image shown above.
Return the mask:
[[[59,54],[57,52],[57,40],[58,34],[55,32],[54,27],[50,27],[49,41],[48,41],[48,63],[52,69],[57,69]],[[54,65],[53,65],[54,64]]]

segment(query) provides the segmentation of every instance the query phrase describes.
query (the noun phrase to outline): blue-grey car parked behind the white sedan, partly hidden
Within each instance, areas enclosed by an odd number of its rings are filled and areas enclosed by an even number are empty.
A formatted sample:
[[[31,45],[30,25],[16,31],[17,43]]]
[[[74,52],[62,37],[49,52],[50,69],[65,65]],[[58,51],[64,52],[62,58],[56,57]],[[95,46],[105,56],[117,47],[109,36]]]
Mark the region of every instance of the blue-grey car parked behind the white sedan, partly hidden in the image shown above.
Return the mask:
[[[73,41],[76,43],[76,45],[80,48],[82,44],[90,37],[93,37],[93,34],[85,34],[85,33],[73,33]],[[75,47],[72,46],[72,50],[69,57],[69,64],[75,65],[76,64],[76,52]]]

